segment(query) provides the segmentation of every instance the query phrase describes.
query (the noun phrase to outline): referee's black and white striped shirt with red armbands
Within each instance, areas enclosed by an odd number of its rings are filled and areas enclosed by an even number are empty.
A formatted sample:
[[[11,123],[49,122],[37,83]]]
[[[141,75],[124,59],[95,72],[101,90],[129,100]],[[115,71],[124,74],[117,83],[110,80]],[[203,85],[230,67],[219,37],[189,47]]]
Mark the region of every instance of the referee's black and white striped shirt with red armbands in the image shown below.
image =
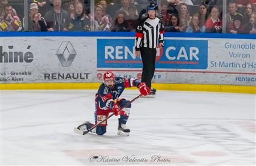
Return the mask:
[[[144,18],[137,27],[135,50],[141,47],[156,48],[158,42],[163,42],[164,27],[159,18]]]

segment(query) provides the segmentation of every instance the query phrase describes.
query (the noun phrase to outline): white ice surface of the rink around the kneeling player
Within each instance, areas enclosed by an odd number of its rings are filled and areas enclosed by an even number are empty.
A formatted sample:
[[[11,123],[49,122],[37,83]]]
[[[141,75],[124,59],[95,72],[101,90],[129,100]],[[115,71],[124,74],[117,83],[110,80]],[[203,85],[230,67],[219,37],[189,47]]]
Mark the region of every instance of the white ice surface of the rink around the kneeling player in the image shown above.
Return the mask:
[[[94,121],[95,92],[1,91],[0,164],[255,165],[255,95],[157,91],[132,104],[129,137],[118,117],[103,136],[77,135]]]

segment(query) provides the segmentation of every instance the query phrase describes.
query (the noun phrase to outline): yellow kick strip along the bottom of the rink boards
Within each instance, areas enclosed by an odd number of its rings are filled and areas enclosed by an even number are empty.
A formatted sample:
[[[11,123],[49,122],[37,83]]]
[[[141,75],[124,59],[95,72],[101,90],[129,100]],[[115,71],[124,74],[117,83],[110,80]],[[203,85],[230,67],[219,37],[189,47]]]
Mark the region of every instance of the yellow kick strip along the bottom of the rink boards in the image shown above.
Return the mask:
[[[97,90],[101,83],[17,83],[0,84],[0,90]],[[256,86],[153,83],[156,90],[206,91],[256,94]],[[135,87],[129,89],[136,89]]]

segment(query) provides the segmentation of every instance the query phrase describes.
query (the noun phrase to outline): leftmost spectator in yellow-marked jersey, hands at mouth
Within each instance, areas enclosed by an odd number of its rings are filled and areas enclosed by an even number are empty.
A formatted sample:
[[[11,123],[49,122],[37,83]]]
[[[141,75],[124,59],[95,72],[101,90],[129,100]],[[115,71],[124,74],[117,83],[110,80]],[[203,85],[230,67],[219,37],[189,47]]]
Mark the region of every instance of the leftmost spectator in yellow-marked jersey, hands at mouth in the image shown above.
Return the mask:
[[[17,15],[13,13],[13,7],[6,3],[3,6],[5,15],[0,17],[0,31],[20,31],[22,29],[22,23]]]

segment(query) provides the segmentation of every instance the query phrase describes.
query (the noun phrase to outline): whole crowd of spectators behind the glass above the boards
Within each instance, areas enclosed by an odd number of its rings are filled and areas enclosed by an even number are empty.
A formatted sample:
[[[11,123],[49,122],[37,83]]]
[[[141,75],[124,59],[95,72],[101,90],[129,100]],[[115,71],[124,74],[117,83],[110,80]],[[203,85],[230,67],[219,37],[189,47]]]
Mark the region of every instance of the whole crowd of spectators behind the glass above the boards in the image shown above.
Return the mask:
[[[152,1],[152,0],[150,0]],[[22,16],[11,0],[0,0],[0,31],[112,31],[131,32],[146,17],[148,0],[28,0]],[[165,32],[256,34],[256,0],[161,0],[158,18]],[[93,13],[93,15],[91,15]]]

